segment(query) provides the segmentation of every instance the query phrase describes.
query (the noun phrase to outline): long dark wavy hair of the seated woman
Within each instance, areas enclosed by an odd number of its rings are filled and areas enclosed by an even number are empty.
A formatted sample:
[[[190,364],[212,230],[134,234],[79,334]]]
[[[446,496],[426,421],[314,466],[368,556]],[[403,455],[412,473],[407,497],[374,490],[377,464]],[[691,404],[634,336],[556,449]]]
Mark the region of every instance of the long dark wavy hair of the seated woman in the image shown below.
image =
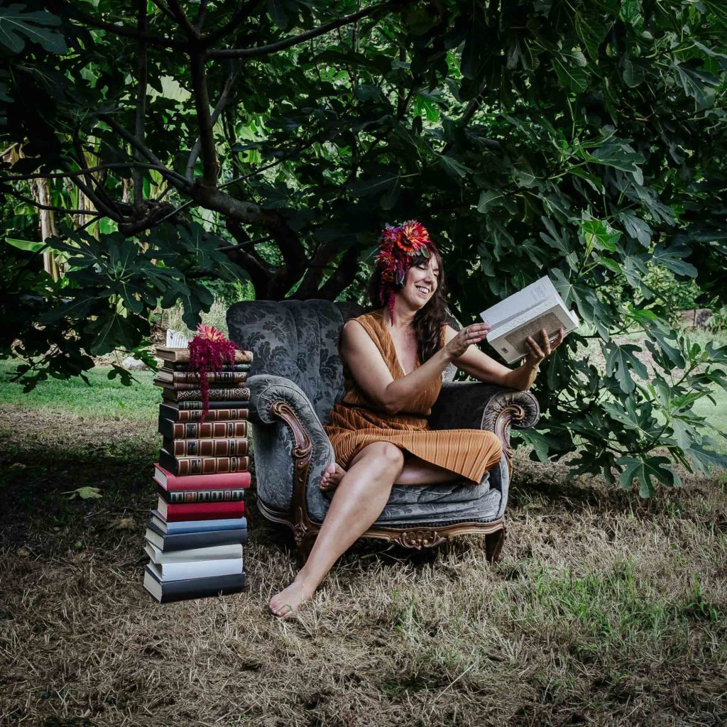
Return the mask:
[[[417,335],[417,348],[419,352],[419,361],[422,364],[427,359],[434,356],[439,350],[440,336],[442,325],[449,321],[449,305],[447,301],[446,289],[444,287],[444,268],[442,265],[442,256],[436,249],[429,248],[429,254],[434,255],[435,260],[439,266],[439,275],[437,276],[437,287],[427,300],[426,305],[423,308],[417,310],[414,314],[414,333]],[[414,268],[417,265],[421,265],[422,262],[428,262],[429,258],[421,253],[415,257],[411,257],[411,265],[409,268]],[[370,308],[367,308],[365,313],[371,312],[371,310],[378,310],[382,307],[379,299],[379,286],[381,283],[382,270],[380,268],[374,269],[374,274],[369,278],[369,284],[366,286],[366,294],[369,298]],[[406,280],[409,278],[409,270],[406,270],[406,277],[402,285],[395,283],[388,283],[387,285],[398,292],[404,285]],[[385,284],[386,285],[386,284]]]

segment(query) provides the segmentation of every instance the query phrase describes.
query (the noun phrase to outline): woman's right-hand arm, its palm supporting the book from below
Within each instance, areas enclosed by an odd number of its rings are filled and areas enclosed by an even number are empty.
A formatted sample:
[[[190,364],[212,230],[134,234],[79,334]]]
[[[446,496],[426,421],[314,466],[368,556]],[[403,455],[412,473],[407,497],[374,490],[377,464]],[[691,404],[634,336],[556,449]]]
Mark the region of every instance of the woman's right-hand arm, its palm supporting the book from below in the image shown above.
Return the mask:
[[[471,377],[487,384],[497,384],[499,386],[524,391],[529,389],[535,381],[540,361],[546,356],[550,356],[550,353],[561,345],[561,342],[563,342],[563,334],[563,329],[561,329],[555,341],[550,343],[546,332],[542,331],[540,346],[529,337],[528,347],[530,351],[521,366],[518,366],[517,369],[508,369],[507,366],[503,366],[498,361],[495,361],[494,358],[491,358],[479,350],[479,348],[472,345],[470,345],[470,348],[467,348],[462,356],[453,359],[454,365],[467,374],[470,374]],[[456,335],[457,331],[449,325],[446,326],[444,330],[445,344]]]

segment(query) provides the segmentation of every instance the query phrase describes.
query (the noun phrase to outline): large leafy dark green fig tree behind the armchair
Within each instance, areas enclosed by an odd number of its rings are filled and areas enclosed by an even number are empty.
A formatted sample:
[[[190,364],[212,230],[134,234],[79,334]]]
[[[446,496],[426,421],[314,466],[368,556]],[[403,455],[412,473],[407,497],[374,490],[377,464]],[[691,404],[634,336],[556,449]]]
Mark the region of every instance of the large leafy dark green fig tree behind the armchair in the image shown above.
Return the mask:
[[[0,172],[5,229],[23,239],[28,206],[63,216],[36,257],[4,252],[4,352],[28,385],[82,374],[88,353],[142,355],[159,302],[193,326],[206,279],[358,297],[382,225],[417,217],[460,320],[549,272],[600,342],[602,370],[578,335],[548,360],[537,456],[580,449],[577,471],[645,495],[675,483],[670,458],[724,461],[693,406],[726,386],[727,353],[672,330],[647,278],[667,268],[724,300],[720,4],[43,7],[0,9],[0,128],[22,151]],[[39,274],[48,249],[58,281]],[[636,326],[653,374],[616,338]]]

